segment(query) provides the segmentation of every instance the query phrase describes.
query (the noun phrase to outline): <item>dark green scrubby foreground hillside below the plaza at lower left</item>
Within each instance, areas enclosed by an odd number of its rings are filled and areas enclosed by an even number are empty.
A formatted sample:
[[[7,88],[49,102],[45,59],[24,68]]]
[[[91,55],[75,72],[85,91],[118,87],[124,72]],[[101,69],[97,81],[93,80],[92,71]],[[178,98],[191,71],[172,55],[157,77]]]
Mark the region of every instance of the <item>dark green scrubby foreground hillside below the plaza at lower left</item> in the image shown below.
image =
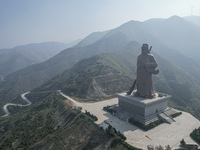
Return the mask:
[[[0,118],[0,149],[108,149],[116,138],[123,142],[115,146],[127,149],[123,134],[111,134],[113,128],[104,131],[94,123],[94,115],[74,109],[58,92],[30,93],[27,97],[32,105]]]

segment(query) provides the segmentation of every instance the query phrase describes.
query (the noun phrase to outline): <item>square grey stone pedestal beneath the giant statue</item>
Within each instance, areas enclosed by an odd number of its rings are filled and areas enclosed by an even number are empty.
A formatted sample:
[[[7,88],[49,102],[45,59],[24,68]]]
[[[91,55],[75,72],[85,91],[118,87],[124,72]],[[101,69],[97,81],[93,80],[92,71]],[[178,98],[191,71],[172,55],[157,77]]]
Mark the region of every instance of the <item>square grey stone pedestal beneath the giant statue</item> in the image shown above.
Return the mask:
[[[170,95],[164,93],[156,93],[154,98],[142,98],[126,93],[117,94],[119,99],[118,107],[123,109],[134,120],[142,124],[148,124],[152,120],[158,119],[158,115],[167,109],[167,102],[171,98]]]

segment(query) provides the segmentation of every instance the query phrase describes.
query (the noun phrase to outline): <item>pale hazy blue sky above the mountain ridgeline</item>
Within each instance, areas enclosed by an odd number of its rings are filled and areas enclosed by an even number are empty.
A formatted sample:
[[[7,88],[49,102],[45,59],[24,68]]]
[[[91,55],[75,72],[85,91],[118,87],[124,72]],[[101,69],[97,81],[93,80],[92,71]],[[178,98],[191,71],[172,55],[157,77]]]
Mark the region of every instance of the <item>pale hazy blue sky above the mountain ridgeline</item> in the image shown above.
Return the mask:
[[[130,20],[200,15],[200,0],[0,0],[0,48],[69,42]]]

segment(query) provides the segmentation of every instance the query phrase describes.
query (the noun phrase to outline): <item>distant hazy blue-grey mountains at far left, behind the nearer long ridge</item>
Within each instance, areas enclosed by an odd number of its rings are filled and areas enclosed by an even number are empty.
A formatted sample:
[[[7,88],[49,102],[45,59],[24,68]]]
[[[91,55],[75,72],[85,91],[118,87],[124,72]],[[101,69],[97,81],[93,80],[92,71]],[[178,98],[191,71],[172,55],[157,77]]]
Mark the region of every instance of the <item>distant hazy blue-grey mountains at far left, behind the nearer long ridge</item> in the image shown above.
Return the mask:
[[[46,61],[60,51],[74,46],[77,42],[32,43],[10,49],[0,49],[0,77],[3,78],[29,65]]]

